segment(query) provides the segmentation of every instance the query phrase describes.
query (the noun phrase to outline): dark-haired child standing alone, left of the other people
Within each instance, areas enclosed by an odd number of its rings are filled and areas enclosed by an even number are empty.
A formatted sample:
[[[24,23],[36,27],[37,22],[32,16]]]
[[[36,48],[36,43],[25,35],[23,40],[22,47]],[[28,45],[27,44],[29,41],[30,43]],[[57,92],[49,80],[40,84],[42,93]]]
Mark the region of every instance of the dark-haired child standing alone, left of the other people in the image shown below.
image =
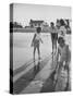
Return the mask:
[[[39,45],[40,45],[40,41],[42,42],[42,40],[40,38],[40,32],[41,32],[41,28],[37,27],[36,33],[34,35],[34,38],[33,38],[33,41],[32,41],[32,46],[34,47],[34,61],[35,61],[35,51],[36,51],[36,49],[38,51],[38,60],[40,60]]]

